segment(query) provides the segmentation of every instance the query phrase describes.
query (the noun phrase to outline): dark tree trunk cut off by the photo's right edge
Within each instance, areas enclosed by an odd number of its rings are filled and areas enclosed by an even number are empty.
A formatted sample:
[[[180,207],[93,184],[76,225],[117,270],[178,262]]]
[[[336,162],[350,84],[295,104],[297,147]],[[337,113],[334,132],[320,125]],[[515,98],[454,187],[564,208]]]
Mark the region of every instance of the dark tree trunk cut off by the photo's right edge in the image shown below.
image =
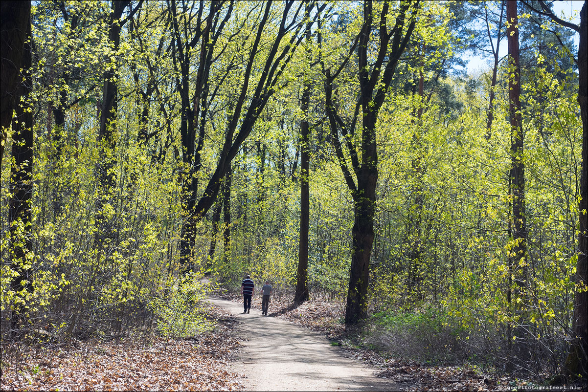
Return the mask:
[[[578,237],[578,262],[576,282],[584,290],[577,290],[572,319],[573,340],[564,366],[564,376],[575,380],[578,376],[588,379],[588,7],[584,2],[580,11],[580,45],[578,71],[580,85],[578,103],[582,116],[582,175],[580,176],[580,222]]]

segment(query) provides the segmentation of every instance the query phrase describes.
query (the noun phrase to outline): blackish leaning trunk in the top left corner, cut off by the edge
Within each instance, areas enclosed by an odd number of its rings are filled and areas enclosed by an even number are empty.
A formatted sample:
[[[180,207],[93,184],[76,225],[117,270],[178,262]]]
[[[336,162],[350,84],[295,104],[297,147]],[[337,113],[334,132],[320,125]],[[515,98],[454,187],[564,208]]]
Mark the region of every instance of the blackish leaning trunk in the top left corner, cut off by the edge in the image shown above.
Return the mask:
[[[0,167],[6,143],[6,130],[10,127],[12,113],[20,100],[22,89],[20,69],[23,61],[23,51],[26,32],[31,20],[30,1],[2,1],[0,2],[0,43],[2,63],[0,70]]]

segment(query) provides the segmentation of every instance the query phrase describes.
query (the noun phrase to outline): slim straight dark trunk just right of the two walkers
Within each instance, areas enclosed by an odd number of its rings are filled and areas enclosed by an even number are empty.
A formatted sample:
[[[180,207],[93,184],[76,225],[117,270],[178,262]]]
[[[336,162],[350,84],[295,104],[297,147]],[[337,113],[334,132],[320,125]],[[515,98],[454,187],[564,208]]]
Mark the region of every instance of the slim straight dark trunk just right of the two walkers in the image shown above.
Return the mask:
[[[306,43],[310,43],[310,1],[306,0],[305,17],[306,22]],[[306,48],[307,59],[310,58],[310,48]],[[308,104],[310,102],[310,82],[308,78],[302,92],[300,109],[304,119],[300,122],[300,150],[302,152],[300,161],[300,239],[298,242],[298,271],[296,272],[296,292],[294,302],[296,304],[310,299],[308,292],[308,225],[310,220],[309,200],[309,168],[310,168],[310,129],[308,124]]]

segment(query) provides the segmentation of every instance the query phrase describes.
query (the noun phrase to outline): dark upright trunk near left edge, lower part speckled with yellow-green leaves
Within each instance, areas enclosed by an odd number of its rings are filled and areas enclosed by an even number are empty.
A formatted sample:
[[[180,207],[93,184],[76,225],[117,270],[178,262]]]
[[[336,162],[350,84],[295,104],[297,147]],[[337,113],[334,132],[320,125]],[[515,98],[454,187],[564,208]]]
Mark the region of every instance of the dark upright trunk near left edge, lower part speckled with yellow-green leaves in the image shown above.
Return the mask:
[[[30,19],[26,35],[31,36]],[[11,290],[19,297],[26,297],[32,292],[31,262],[28,256],[32,250],[32,216],[31,197],[33,193],[33,115],[29,102],[32,92],[31,78],[31,42],[24,44],[22,55],[23,80],[19,83],[17,96],[24,96],[24,102],[16,106],[16,116],[12,122],[12,158],[14,166],[10,173],[10,193],[8,208],[8,225],[10,227],[9,257],[11,269],[18,273],[12,282]],[[22,305],[16,304],[12,313],[12,326],[18,327],[22,316]]]

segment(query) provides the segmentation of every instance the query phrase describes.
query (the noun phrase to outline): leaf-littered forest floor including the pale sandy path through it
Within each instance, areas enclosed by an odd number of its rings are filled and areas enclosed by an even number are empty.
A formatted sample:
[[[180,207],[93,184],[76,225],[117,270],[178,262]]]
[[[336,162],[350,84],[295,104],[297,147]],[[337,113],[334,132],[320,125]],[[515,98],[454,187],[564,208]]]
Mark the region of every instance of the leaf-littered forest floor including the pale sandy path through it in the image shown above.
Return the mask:
[[[230,300],[232,299],[232,300]],[[125,339],[14,345],[2,342],[0,389],[191,391],[487,391],[544,390],[530,381],[473,368],[393,359],[345,330],[342,304],[293,307],[260,297],[249,314],[238,296],[210,299],[214,330],[189,339],[136,333]]]

